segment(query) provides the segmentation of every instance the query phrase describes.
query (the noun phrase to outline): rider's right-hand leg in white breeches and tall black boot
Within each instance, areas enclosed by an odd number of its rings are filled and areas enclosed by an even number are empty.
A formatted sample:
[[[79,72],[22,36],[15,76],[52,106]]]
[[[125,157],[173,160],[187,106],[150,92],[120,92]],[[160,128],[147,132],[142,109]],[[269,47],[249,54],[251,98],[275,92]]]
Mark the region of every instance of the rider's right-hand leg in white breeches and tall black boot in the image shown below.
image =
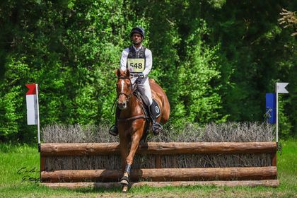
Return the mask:
[[[161,124],[159,124],[158,122],[156,122],[156,105],[153,105],[153,100],[151,98],[151,86],[149,85],[149,81],[148,78],[144,78],[144,80],[141,82],[141,84],[139,84],[138,86],[139,91],[141,91],[142,95],[145,95],[147,98],[147,102],[146,105],[148,105],[148,110],[150,112],[150,116],[151,116],[151,122],[152,122],[152,130],[153,130],[153,134],[157,135],[159,134],[163,127]]]

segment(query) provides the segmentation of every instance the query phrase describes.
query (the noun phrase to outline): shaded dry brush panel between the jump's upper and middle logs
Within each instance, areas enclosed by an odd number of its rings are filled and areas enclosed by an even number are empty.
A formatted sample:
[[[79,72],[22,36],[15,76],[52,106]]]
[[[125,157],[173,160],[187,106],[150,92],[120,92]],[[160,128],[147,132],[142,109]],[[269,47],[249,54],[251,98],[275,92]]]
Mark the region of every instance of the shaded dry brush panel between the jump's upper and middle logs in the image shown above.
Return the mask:
[[[162,168],[219,168],[272,165],[270,154],[196,154],[162,156]],[[47,157],[47,170],[120,169],[120,156]],[[135,156],[132,168],[156,168],[155,156]]]

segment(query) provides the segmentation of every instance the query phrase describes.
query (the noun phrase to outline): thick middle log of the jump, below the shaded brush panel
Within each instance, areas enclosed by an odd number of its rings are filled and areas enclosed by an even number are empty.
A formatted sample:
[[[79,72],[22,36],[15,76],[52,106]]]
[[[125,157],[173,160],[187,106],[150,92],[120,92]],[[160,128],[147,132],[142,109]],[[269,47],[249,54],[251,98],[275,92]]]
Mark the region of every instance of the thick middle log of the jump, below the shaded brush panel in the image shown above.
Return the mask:
[[[54,170],[42,171],[42,182],[117,182],[122,170]],[[193,181],[193,180],[271,180],[276,167],[248,168],[150,168],[131,172],[131,180]]]

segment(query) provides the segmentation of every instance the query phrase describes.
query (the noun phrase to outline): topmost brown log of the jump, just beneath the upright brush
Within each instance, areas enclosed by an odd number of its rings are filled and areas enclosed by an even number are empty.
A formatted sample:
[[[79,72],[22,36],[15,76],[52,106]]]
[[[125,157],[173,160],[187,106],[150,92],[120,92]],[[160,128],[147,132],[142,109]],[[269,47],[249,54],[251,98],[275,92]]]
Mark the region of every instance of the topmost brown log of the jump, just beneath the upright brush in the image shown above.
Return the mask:
[[[275,153],[276,142],[149,142],[137,153],[155,155],[199,153]],[[41,144],[41,156],[120,155],[118,143]]]

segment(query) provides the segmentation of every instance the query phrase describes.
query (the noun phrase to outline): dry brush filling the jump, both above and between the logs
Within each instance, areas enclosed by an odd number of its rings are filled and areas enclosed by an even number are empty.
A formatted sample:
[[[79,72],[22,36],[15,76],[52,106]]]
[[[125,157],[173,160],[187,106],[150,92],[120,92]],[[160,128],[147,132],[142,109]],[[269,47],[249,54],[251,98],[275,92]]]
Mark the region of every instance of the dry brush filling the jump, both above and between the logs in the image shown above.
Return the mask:
[[[117,142],[118,137],[108,134],[107,125],[49,125],[42,129],[45,143]],[[148,136],[148,141],[272,141],[274,127],[257,122],[229,122],[199,127],[187,123],[183,127],[165,126],[159,136]],[[252,167],[272,165],[271,154],[197,154],[162,156],[163,168]],[[47,170],[120,169],[120,156],[64,156],[45,161]],[[152,155],[136,156],[133,168],[155,168]]]

